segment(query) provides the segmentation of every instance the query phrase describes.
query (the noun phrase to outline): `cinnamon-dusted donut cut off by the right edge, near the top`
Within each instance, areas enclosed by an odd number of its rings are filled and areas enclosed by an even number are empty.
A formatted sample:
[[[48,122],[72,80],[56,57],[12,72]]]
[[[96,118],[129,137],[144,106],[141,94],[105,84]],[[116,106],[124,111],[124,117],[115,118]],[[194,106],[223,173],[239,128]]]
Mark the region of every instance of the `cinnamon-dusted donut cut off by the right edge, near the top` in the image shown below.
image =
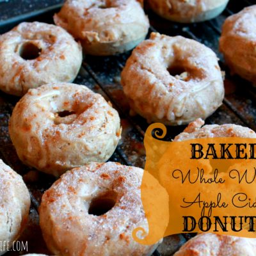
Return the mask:
[[[228,17],[223,25],[220,51],[232,73],[256,83],[256,5]]]

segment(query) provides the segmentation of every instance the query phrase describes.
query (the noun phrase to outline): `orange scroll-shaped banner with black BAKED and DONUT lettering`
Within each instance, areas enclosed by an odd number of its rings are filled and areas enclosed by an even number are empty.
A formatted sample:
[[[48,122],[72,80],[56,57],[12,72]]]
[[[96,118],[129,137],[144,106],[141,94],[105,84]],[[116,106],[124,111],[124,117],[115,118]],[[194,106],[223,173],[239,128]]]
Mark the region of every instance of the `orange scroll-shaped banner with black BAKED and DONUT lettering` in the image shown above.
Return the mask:
[[[163,124],[150,125],[145,135],[141,199],[148,232],[136,228],[134,240],[154,244],[189,232],[255,238],[256,140],[166,142],[165,136]]]

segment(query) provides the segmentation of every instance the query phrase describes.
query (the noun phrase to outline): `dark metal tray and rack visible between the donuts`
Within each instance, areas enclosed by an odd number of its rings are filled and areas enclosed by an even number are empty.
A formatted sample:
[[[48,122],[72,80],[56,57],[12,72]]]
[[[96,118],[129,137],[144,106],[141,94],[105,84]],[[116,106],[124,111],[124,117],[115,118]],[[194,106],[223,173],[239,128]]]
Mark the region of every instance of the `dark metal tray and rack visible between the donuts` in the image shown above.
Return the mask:
[[[206,120],[207,124],[239,124],[250,127],[256,131],[256,88],[238,76],[230,76],[225,66],[223,56],[218,51],[218,39],[220,37],[223,21],[233,13],[239,12],[245,6],[253,4],[254,0],[230,0],[227,9],[216,19],[198,24],[176,24],[163,20],[147,10],[150,18],[150,32],[158,31],[170,36],[183,35],[193,38],[211,47],[220,58],[220,65],[226,72],[225,100],[223,105]],[[0,34],[10,30],[22,21],[38,20],[53,23],[52,15],[58,12],[63,0],[4,0],[0,1]],[[83,67],[74,83],[84,84],[94,92],[101,93],[107,100],[113,103],[122,119],[122,141],[116,148],[111,161],[142,167],[145,164],[145,149],[143,136],[148,124],[140,116],[129,116],[129,106],[120,86],[120,72],[131,52],[111,57],[86,56]],[[38,225],[38,206],[45,189],[54,182],[54,178],[44,173],[28,168],[20,163],[12,142],[8,135],[8,120],[12,109],[19,98],[0,92],[0,158],[12,166],[24,178],[31,193],[31,210],[28,227],[20,237],[20,241],[28,241],[28,252],[49,254],[42,238]],[[173,138],[184,127],[169,127],[168,136]],[[191,236],[174,236],[172,248],[184,243]],[[183,241],[183,242],[182,242]],[[174,250],[174,249],[173,249]],[[8,252],[6,255],[17,255],[17,252]],[[154,255],[160,255],[155,252]]]

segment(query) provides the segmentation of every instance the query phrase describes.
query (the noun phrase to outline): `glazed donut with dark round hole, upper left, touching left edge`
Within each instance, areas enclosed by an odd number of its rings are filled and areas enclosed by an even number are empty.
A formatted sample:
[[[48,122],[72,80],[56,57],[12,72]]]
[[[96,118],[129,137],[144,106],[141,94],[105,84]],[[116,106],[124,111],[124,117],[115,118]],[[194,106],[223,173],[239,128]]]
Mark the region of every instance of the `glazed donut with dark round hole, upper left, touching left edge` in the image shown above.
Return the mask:
[[[82,50],[62,28],[23,22],[0,35],[0,63],[0,90],[21,96],[42,84],[72,82]]]

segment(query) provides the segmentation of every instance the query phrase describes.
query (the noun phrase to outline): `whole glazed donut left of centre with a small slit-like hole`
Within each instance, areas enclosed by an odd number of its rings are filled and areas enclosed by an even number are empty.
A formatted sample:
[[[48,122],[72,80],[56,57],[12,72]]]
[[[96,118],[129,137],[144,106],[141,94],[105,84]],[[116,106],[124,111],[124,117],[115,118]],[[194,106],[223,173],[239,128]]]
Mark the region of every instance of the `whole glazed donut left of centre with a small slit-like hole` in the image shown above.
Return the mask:
[[[29,90],[13,109],[10,137],[22,162],[59,176],[111,157],[120,140],[120,118],[86,86],[46,84]]]

